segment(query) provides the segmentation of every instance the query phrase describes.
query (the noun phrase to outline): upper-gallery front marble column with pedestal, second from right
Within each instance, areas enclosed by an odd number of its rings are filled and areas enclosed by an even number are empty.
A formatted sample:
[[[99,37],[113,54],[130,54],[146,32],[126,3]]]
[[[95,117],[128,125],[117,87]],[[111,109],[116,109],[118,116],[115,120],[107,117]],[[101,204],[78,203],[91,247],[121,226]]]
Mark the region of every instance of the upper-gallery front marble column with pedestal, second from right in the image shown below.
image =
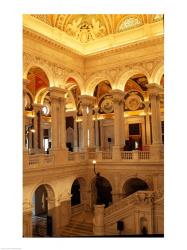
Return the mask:
[[[125,143],[124,131],[124,92],[121,90],[113,90],[113,105],[114,105],[114,146],[113,159],[120,159],[120,149]]]

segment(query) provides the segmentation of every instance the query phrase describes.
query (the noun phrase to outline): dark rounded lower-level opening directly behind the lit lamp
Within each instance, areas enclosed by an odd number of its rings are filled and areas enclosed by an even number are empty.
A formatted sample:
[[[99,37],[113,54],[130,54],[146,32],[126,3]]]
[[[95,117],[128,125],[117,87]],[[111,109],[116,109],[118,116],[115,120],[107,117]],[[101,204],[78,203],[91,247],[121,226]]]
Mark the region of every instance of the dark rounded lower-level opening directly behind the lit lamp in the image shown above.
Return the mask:
[[[112,185],[105,178],[95,177],[91,183],[92,209],[95,204],[104,204],[108,207],[112,203]]]

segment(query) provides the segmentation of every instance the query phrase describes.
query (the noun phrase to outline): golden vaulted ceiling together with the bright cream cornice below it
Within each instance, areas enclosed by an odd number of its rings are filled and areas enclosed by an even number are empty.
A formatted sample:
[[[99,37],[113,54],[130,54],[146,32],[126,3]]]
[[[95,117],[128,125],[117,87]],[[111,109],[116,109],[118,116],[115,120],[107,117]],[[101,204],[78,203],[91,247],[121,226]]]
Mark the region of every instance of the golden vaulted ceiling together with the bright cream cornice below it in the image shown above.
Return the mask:
[[[163,15],[25,14],[23,27],[86,56],[162,36]]]

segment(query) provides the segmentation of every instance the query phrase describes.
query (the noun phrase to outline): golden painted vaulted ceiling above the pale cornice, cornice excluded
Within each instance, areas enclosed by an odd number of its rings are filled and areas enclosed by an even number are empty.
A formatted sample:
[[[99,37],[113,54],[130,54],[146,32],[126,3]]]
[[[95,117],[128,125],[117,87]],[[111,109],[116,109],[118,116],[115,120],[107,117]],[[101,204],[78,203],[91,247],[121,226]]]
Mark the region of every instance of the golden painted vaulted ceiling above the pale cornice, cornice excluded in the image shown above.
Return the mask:
[[[147,23],[154,23],[163,18],[161,14],[35,14],[32,16],[65,32],[81,43],[87,43],[110,34],[124,32]]]

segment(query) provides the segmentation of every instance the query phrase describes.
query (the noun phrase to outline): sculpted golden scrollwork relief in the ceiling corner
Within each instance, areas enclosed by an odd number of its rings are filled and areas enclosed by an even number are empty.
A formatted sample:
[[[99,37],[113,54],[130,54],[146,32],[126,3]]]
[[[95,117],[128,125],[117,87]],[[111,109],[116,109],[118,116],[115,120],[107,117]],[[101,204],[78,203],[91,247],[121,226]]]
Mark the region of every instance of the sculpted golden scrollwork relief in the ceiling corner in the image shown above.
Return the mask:
[[[80,17],[67,25],[66,32],[80,42],[87,43],[96,38],[103,37],[106,34],[106,28],[95,18],[92,18],[91,22],[88,22]]]

